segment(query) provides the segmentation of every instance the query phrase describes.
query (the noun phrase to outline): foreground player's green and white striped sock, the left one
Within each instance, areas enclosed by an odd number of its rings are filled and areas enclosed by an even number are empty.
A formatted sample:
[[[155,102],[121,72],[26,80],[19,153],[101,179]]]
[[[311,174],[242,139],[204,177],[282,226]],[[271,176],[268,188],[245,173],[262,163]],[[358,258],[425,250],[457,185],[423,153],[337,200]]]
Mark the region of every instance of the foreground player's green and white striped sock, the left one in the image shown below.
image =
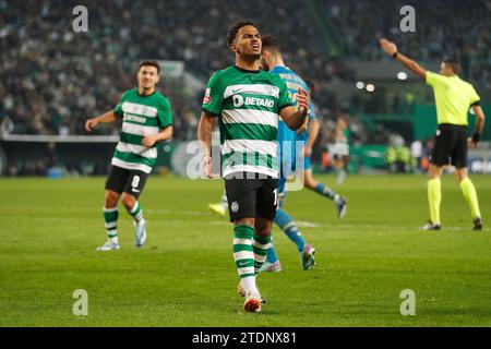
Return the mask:
[[[241,279],[254,277],[254,251],[252,249],[252,237],[254,228],[249,226],[237,226],[233,228],[233,260],[237,272]]]

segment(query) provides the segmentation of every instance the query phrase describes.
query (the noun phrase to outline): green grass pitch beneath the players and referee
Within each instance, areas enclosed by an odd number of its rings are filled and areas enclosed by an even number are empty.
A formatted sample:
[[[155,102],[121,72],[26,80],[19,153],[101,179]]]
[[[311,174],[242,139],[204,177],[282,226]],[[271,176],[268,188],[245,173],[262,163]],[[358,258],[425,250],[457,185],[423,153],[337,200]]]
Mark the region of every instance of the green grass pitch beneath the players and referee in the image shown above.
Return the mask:
[[[334,177],[320,177],[333,184]],[[284,272],[259,277],[260,314],[236,293],[232,229],[208,213],[223,182],[152,177],[141,203],[148,241],[133,245],[120,207],[121,250],[98,253],[104,178],[0,180],[0,326],[490,326],[491,231],[470,230],[458,185],[443,181],[439,232],[428,218],[426,179],[348,177],[346,219],[316,193],[290,193],[286,209],[318,249],[303,272],[283,232]],[[484,224],[491,180],[474,177]],[[88,292],[75,316],[73,291]],[[416,316],[402,316],[402,290],[416,292]]]

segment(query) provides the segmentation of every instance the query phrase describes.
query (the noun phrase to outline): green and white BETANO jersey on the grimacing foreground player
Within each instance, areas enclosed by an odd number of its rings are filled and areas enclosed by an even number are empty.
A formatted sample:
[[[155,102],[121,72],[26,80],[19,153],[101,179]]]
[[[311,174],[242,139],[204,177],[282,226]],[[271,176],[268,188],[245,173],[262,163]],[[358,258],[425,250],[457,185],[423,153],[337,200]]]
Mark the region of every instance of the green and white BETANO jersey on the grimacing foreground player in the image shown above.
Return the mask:
[[[253,172],[278,178],[278,119],[291,106],[277,74],[230,67],[211,79],[203,110],[218,117],[221,174]]]

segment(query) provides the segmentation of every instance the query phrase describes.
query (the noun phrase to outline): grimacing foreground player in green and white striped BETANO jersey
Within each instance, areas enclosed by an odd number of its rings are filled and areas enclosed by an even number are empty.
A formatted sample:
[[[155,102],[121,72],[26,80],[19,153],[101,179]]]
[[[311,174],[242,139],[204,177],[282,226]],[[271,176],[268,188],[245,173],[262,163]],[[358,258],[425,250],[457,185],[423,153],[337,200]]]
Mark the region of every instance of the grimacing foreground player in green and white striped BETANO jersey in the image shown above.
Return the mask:
[[[260,70],[262,40],[258,27],[247,21],[232,24],[227,44],[236,65],[209,79],[203,99],[197,137],[203,165],[212,173],[212,132],[219,122],[221,176],[230,221],[233,222],[233,260],[240,277],[239,293],[248,312],[261,311],[256,275],[271,246],[278,200],[278,119],[291,130],[306,121],[309,97],[299,89],[292,106],[283,80]]]

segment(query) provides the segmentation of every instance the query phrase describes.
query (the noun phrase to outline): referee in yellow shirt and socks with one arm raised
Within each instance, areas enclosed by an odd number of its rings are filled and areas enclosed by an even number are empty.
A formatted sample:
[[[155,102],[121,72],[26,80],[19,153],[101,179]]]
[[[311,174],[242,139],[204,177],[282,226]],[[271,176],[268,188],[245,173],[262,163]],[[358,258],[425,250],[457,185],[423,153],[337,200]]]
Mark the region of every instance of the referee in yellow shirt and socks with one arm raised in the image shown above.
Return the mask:
[[[441,63],[440,74],[429,72],[417,62],[397,51],[397,46],[384,38],[380,39],[382,49],[395,60],[421,76],[433,87],[436,104],[438,130],[436,141],[430,160],[428,180],[428,201],[430,221],[421,229],[440,230],[440,205],[442,202],[441,177],[444,168],[452,164],[455,174],[466,198],[474,219],[474,230],[482,230],[482,216],[476,188],[468,178],[467,146],[476,148],[484,128],[484,113],[480,106],[480,97],[471,84],[463,81],[458,74],[460,67],[455,59],[446,59]],[[476,115],[476,130],[472,139],[467,139],[468,111],[472,108]]]

